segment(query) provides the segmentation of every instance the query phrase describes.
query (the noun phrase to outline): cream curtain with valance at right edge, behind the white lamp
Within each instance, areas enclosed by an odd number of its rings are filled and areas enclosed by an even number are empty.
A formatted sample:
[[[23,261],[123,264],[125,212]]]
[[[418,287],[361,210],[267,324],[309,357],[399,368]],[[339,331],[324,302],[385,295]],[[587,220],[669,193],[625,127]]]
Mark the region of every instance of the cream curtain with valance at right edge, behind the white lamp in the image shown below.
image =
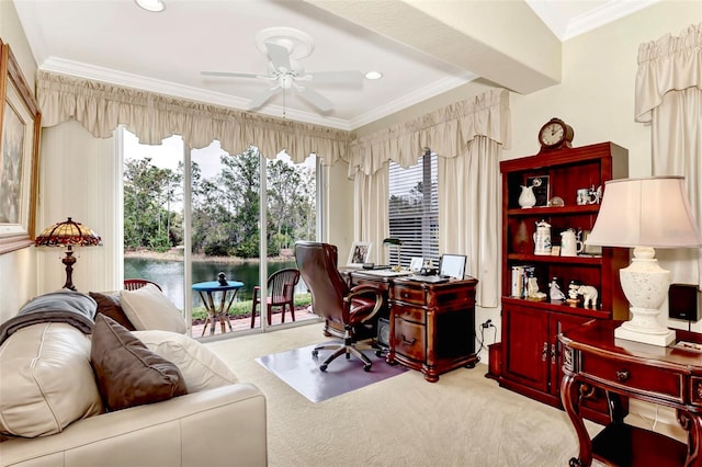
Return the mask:
[[[652,124],[654,175],[682,175],[702,228],[702,23],[638,47],[636,122]],[[702,250],[657,251],[678,283],[702,289]]]

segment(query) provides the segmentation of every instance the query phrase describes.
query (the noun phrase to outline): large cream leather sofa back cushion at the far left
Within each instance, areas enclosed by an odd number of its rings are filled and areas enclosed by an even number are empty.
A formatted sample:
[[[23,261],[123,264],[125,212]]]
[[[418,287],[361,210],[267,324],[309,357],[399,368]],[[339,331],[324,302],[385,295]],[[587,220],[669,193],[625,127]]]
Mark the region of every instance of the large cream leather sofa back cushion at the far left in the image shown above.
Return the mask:
[[[0,346],[0,431],[46,436],[102,412],[90,340],[67,323],[32,324]]]

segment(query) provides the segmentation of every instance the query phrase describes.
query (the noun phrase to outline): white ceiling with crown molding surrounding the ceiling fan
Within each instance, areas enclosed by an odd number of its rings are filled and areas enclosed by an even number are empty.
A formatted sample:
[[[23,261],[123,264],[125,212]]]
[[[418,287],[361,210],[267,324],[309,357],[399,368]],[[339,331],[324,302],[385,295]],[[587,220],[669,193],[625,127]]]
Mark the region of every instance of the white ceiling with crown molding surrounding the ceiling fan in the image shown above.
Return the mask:
[[[314,52],[301,60],[305,71],[377,70],[384,77],[364,80],[361,88],[315,86],[316,91],[335,103],[335,110],[324,115],[294,92],[286,93],[285,102],[282,94],[276,95],[258,112],[281,116],[284,106],[288,118],[341,129],[354,129],[474,80],[478,73],[473,70],[502,66],[502,54],[484,57],[485,64],[474,61],[473,67],[464,65],[466,54],[462,59],[448,59],[444,52],[432,53],[437,44],[426,39],[420,46],[411,37],[400,42],[398,37],[403,34],[420,35],[419,31],[407,31],[421,24],[409,18],[412,14],[399,19],[374,16],[366,22],[358,19],[361,10],[365,14],[377,13],[376,16],[392,16],[397,8],[414,13],[415,10],[408,10],[408,2],[163,1],[166,10],[151,13],[139,9],[133,0],[13,0],[41,69],[242,110],[270,86],[267,81],[204,78],[200,71],[267,73],[268,58],[257,48],[257,33],[272,26],[295,27],[315,42]],[[557,38],[554,41],[565,41],[656,1],[526,0],[525,3],[531,8],[526,13],[534,16],[533,27],[547,31],[545,23],[551,30],[548,35]],[[424,3],[441,5],[438,1]],[[477,4],[467,0],[463,3],[466,8]],[[523,3],[509,0],[482,7],[523,9]],[[426,21],[427,16],[422,18]],[[400,20],[407,21],[406,31],[393,34]],[[375,27],[369,26],[371,23]],[[378,34],[371,29],[390,33]],[[509,71],[512,66],[505,61],[502,68]],[[496,86],[514,88],[513,83],[500,82],[499,72],[482,77]]]

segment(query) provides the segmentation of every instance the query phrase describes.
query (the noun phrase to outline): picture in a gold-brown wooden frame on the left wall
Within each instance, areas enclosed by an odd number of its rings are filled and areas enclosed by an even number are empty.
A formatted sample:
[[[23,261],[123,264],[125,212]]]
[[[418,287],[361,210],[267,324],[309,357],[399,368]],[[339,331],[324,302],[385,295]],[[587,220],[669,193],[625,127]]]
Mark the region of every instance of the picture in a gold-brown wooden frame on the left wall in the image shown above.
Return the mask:
[[[10,46],[0,52],[1,254],[34,239],[41,113]]]

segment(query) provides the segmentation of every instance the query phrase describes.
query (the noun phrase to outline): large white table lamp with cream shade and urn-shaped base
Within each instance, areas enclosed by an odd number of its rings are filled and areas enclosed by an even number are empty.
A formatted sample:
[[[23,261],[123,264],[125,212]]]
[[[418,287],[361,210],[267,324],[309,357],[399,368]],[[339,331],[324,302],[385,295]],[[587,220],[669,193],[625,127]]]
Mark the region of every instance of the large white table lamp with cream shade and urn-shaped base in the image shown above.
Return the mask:
[[[702,246],[684,178],[605,182],[602,206],[586,244],[634,249],[632,263],[620,270],[632,319],[616,328],[614,337],[659,346],[673,342],[675,331],[657,319],[668,295],[670,272],[658,265],[654,248]]]

